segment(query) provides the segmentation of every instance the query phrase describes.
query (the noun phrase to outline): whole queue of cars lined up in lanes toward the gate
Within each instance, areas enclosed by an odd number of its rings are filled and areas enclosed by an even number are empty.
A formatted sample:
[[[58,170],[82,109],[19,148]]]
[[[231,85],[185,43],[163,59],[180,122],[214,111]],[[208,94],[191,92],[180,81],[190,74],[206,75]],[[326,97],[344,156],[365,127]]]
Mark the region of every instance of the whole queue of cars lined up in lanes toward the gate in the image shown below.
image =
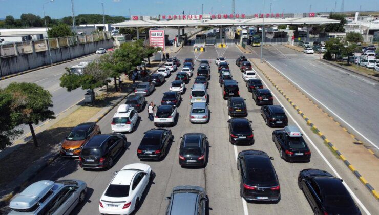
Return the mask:
[[[220,58],[218,58],[220,59]],[[221,58],[222,59],[222,58]],[[224,59],[224,58],[223,58]],[[164,65],[174,72],[178,60],[169,60]],[[185,68],[192,73],[194,60],[186,58]],[[231,117],[228,123],[228,136],[231,144],[252,145],[255,143],[252,121],[244,118],[248,115],[246,99],[240,97],[238,82],[233,80],[233,72],[226,61],[216,63],[219,71],[221,95],[227,99],[227,112]],[[180,61],[179,61],[180,65]],[[273,105],[273,97],[264,89],[250,62],[240,56],[236,60],[246,88],[252,93],[251,99],[260,105],[260,114],[269,127],[279,127],[272,132],[273,144],[278,148],[280,157],[288,162],[309,162],[311,152],[296,126],[288,125],[288,118],[280,105]],[[210,74],[208,61],[200,61],[195,83],[189,93],[191,103],[189,121],[207,123],[209,121],[208,80]],[[170,68],[175,68],[171,71]],[[166,72],[164,69],[162,72]],[[250,74],[248,74],[250,73]],[[254,73],[254,74],[251,74]],[[178,76],[178,74],[180,74]],[[186,93],[186,83],[190,75],[178,73],[171,83],[169,91],[163,94],[161,105],[154,115],[155,126],[175,126],[178,118],[178,106],[181,96]],[[229,77],[229,78],[226,78]],[[222,80],[222,84],[221,84]],[[60,154],[78,156],[79,166],[84,169],[109,169],[114,160],[128,147],[127,137],[121,132],[133,132],[138,123],[138,112],[144,110],[144,96],[151,95],[151,85],[162,85],[163,74],[153,74],[149,82],[137,85],[134,95],[128,96],[125,104],[119,105],[114,115],[111,134],[101,134],[95,123],[83,123],[73,128],[67,136]],[[144,93],[139,93],[138,86]],[[116,133],[118,132],[118,133]],[[178,164],[181,167],[205,167],[208,162],[208,137],[203,133],[185,133],[180,137]],[[137,148],[137,157],[142,160],[162,160],[167,155],[174,135],[168,128],[153,128],[146,131]],[[237,169],[240,173],[240,196],[247,201],[278,202],[281,198],[280,182],[270,157],[261,150],[243,150],[237,157]],[[137,210],[146,187],[153,180],[153,170],[142,163],[125,165],[114,173],[113,179],[102,193],[98,210],[101,214],[130,214]],[[360,214],[359,208],[342,184],[342,180],[319,169],[304,169],[298,177],[298,186],[303,190],[315,214]],[[333,187],[333,189],[331,189]],[[63,191],[64,190],[64,191]],[[32,212],[32,214],[65,214],[84,201],[87,184],[78,180],[40,181],[30,185],[11,201],[11,214]],[[59,198],[56,198],[59,196]],[[64,198],[61,198],[64,197]],[[338,197],[337,199],[335,197]],[[198,186],[174,187],[167,205],[166,214],[182,214],[183,208],[194,214],[206,214],[206,191]],[[68,205],[68,206],[67,206]],[[63,211],[63,212],[62,212]]]

